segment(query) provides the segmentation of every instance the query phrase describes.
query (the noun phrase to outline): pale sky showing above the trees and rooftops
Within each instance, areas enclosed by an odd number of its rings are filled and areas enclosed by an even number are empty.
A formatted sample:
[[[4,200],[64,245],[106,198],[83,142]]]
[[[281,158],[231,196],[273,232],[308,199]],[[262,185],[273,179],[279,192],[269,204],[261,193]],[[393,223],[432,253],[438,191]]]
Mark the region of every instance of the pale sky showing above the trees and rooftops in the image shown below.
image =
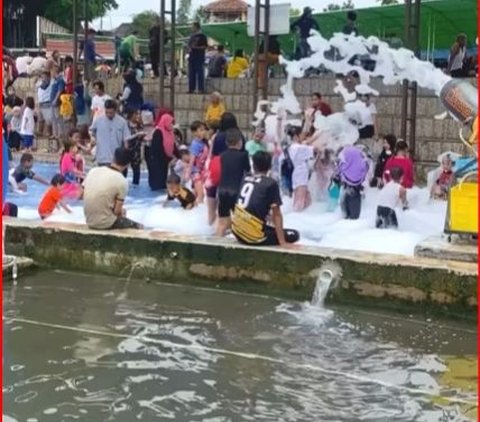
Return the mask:
[[[177,6],[180,0],[176,0]],[[192,11],[197,9],[200,5],[205,5],[209,0],[192,0]],[[253,4],[252,0],[247,0],[248,3]],[[102,25],[104,30],[110,30],[116,28],[121,23],[130,22],[132,20],[132,15],[143,12],[144,10],[152,10],[154,7],[160,9],[160,0],[117,0],[119,7],[117,10],[109,12],[103,19]],[[275,3],[288,3],[286,0],[271,0],[271,4]],[[315,3],[315,6],[312,6],[312,3]],[[323,8],[329,3],[341,4],[341,0],[291,0],[290,4],[292,7],[301,9],[305,6],[310,6],[316,11],[322,11]],[[353,3],[356,7],[368,7],[374,6],[378,3],[375,0],[353,0]],[[169,1],[166,1],[167,8]],[[100,29],[100,19],[97,19],[94,22],[94,27]]]

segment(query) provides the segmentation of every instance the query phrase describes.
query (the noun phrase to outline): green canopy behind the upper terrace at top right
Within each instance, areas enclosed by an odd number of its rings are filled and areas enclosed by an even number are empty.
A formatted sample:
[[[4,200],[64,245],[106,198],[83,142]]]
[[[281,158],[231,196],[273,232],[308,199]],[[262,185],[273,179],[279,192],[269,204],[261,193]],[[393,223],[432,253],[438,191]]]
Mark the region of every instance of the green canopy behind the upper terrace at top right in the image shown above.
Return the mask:
[[[359,32],[363,36],[378,36],[382,39],[404,38],[405,10],[402,5],[379,6],[356,9]],[[346,11],[325,12],[314,15],[324,37],[340,32],[345,24]],[[292,18],[292,21],[298,18]],[[247,53],[254,49],[254,38],[247,35],[246,22],[205,24],[204,33],[225,45],[230,51],[242,48]],[[185,37],[189,27],[178,28]],[[477,34],[476,0],[426,0],[421,3],[420,48],[423,51],[447,49],[460,32],[465,32],[469,44],[475,43]],[[279,36],[282,50],[291,54],[295,50],[294,34]]]

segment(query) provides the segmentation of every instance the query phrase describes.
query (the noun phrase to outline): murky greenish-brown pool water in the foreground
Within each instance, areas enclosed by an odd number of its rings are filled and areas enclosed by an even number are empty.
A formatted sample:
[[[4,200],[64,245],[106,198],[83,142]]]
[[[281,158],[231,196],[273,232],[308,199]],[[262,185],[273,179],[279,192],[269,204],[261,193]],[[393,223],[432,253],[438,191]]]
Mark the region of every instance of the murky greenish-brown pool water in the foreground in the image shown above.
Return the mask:
[[[3,300],[8,420],[476,419],[470,325],[65,272]]]

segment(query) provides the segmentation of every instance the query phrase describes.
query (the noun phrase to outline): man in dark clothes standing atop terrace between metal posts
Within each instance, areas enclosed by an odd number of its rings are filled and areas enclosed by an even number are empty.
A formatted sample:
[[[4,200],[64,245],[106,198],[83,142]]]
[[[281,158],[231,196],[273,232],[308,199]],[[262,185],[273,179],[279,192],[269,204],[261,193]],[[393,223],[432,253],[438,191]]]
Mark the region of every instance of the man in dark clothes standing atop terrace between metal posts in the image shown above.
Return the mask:
[[[193,94],[198,88],[205,92],[205,51],[208,41],[198,22],[192,26],[192,35],[188,40],[188,93]]]

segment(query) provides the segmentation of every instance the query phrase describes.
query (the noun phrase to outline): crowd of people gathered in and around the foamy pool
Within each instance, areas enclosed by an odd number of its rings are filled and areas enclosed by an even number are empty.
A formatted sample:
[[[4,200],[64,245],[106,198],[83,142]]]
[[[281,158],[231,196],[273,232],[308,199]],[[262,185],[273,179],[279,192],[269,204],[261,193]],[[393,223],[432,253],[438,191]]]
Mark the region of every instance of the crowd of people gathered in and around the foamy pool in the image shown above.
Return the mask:
[[[218,236],[232,233],[245,244],[286,246],[299,240],[297,231],[283,227],[281,207],[289,197],[296,212],[320,200],[328,202],[328,211],[340,208],[344,218],[355,220],[366,189],[380,189],[377,228],[397,228],[397,213],[408,207],[415,183],[408,145],[394,135],[378,134],[370,95],[358,94],[364,109],[355,145],[322,144],[314,122],[333,110],[320,93],[312,95],[301,125],[288,123],[279,112],[272,136],[262,126],[251,134],[242,133],[222,95],[214,92],[204,120],[192,122],[184,139],[175,127],[174,110],[155,110],[144,103],[142,85],[131,70],[124,74],[124,90],[116,98],[105,93],[101,81],[94,81],[90,107],[83,105],[85,118],[74,125],[65,119],[58,102],[72,95],[67,94],[73,88],[70,63],[67,58],[64,69],[58,66],[42,74],[37,101],[17,97],[13,86],[5,97],[4,118],[9,122],[5,140],[10,150],[22,152],[19,165],[11,167],[10,190],[28,194],[29,179],[49,185],[38,206],[42,219],[57,208],[70,212],[71,201],[83,201],[92,229],[141,229],[142,224],[127,217],[124,202],[129,185],[135,188],[141,183],[143,162],[146,182],[153,192],[165,196],[165,206],[177,202],[191,210],[205,203],[205,224],[215,225]],[[59,117],[61,124],[55,123]],[[54,125],[57,129],[50,132]],[[51,182],[33,171],[36,133],[61,143],[56,150],[59,170]],[[89,160],[94,167],[88,171]],[[453,181],[452,159],[447,156],[432,198],[445,199]],[[17,212],[11,203],[4,207],[8,215]]]

